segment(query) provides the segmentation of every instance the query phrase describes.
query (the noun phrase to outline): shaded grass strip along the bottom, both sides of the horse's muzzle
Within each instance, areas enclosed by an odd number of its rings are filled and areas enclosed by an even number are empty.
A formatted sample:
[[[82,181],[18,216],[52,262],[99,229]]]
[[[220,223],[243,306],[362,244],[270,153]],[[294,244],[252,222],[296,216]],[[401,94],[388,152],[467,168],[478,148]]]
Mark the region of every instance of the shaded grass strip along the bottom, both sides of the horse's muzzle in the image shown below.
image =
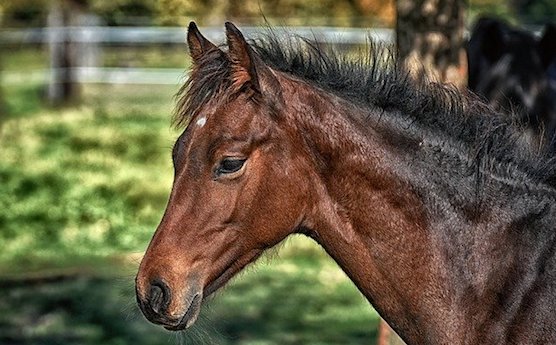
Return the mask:
[[[0,343],[13,345],[372,344],[378,322],[354,287],[323,284],[313,269],[248,272],[177,334],[143,319],[132,275],[4,280],[0,293]]]

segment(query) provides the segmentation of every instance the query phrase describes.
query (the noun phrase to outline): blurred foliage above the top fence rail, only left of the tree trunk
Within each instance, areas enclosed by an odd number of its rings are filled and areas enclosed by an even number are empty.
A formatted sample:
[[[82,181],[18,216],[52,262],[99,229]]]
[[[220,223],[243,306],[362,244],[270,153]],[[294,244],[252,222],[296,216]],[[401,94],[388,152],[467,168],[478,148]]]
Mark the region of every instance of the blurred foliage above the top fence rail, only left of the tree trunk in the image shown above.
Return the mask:
[[[263,16],[286,24],[391,25],[393,0],[72,0],[98,14],[108,25],[184,25],[195,19],[219,25],[222,18],[261,23]],[[44,22],[49,0],[5,0],[4,20],[13,25]],[[333,14],[333,15],[331,15]],[[35,24],[36,25],[36,24]]]

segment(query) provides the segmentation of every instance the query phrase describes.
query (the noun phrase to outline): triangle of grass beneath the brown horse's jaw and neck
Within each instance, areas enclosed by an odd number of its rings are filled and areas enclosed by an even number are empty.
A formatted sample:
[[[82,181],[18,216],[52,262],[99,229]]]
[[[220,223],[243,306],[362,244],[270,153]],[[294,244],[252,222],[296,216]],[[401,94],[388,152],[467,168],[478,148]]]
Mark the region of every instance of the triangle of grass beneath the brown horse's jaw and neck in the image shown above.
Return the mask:
[[[208,316],[237,341],[229,344],[372,344],[378,323],[336,264],[301,238],[235,281]]]

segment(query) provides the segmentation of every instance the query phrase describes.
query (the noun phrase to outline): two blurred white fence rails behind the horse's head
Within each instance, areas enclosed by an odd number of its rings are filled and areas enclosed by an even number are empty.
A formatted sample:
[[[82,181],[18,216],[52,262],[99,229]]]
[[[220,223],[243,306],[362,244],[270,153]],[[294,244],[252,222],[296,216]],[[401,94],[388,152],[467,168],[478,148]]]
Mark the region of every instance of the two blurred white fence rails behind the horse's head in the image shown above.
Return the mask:
[[[249,38],[268,33],[265,27],[240,27]],[[211,41],[225,40],[223,27],[204,27],[201,32]],[[366,44],[369,38],[375,42],[392,43],[391,29],[360,29],[335,27],[274,27],[272,32],[284,37],[302,37],[311,41],[334,45]],[[6,45],[78,43],[81,51],[95,52],[110,45],[154,45],[184,44],[186,29],[182,27],[104,27],[80,26],[60,28],[29,28],[0,30],[0,49]],[[92,49],[91,49],[92,48]],[[5,49],[5,48],[4,48]],[[87,57],[81,60],[87,60]],[[89,61],[91,59],[88,59]],[[92,59],[95,60],[94,58]],[[25,81],[48,82],[54,75],[71,75],[79,83],[108,84],[179,84],[183,71],[175,68],[107,68],[94,63],[63,69],[26,71],[25,73],[4,72],[5,84]]]

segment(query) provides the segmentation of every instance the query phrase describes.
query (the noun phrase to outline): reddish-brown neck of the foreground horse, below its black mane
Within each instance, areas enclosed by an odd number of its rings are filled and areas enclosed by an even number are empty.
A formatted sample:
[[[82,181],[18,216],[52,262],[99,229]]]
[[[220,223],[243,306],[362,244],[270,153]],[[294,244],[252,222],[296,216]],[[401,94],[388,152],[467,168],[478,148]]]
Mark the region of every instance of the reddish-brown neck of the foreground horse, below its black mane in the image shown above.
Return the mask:
[[[519,222],[534,215],[553,216],[553,207],[539,207],[535,201],[531,206],[519,193],[519,206],[511,199],[502,202],[498,196],[483,195],[482,200],[491,203],[489,212],[476,212],[480,205],[465,196],[465,191],[473,194],[469,191],[475,191],[476,180],[468,172],[453,177],[454,171],[441,171],[438,157],[409,157],[389,138],[418,145],[399,126],[389,127],[388,121],[362,125],[372,122],[364,120],[369,116],[365,110],[303,83],[291,96],[297,105],[288,109],[288,121],[303,133],[310,155],[317,157],[308,234],[406,341],[481,342],[482,323],[499,312],[495,296],[508,287],[507,272],[526,270],[513,256],[523,254],[521,250],[501,250],[515,249],[520,242],[514,237],[518,224],[512,213],[519,213]],[[443,188],[450,179],[457,183]],[[494,181],[486,186],[494,194],[515,187]],[[454,205],[458,202],[461,205]],[[547,246],[554,245],[554,234],[544,230]],[[527,279],[530,284],[534,277]],[[492,306],[485,306],[488,303]]]

